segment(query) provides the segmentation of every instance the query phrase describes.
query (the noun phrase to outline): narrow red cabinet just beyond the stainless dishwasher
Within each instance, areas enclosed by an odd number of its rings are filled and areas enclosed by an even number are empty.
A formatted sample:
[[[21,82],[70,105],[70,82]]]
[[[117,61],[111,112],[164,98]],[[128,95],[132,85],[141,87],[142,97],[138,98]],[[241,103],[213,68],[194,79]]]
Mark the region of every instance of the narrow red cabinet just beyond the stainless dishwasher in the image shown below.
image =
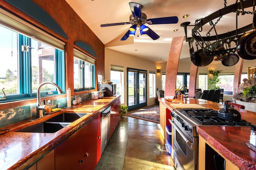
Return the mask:
[[[111,115],[110,115],[110,137],[116,129],[116,125],[120,121],[121,112],[120,112],[120,98],[118,98],[114,104],[111,105]]]

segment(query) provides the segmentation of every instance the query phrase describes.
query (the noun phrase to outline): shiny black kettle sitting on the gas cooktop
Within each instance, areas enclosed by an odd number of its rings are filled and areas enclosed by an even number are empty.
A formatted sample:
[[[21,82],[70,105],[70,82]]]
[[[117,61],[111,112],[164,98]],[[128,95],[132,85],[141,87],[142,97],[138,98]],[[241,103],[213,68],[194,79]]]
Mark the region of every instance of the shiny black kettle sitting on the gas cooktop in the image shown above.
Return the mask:
[[[224,108],[219,109],[218,117],[225,120],[240,121],[241,120],[240,112],[234,109],[234,106],[232,106],[232,104],[228,105],[228,102],[230,101],[227,100],[225,102]]]

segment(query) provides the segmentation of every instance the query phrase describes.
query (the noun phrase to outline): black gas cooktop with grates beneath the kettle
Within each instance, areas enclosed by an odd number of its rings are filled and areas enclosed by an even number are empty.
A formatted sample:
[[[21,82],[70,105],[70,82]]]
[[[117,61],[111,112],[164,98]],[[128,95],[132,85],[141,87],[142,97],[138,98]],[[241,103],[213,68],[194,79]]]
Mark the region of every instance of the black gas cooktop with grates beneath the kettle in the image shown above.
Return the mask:
[[[189,117],[192,117],[197,122],[204,125],[250,125],[250,122],[245,120],[231,121],[218,117],[218,111],[213,109],[180,109],[180,111]]]

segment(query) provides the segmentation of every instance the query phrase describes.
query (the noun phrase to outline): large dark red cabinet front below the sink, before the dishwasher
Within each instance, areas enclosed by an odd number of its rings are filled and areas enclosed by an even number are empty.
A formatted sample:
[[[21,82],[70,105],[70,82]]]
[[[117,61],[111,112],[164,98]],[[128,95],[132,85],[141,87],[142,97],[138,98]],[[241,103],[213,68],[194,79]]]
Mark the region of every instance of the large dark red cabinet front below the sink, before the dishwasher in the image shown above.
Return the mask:
[[[100,153],[100,114],[55,148],[55,169],[94,169]]]

